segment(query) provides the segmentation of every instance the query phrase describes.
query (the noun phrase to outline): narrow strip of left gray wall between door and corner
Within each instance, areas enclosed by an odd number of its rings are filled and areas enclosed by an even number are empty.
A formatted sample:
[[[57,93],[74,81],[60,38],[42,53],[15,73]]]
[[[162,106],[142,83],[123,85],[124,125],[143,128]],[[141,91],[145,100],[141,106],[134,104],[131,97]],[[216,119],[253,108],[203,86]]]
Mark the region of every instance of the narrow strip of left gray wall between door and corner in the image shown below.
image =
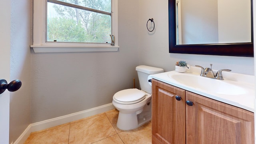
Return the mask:
[[[10,92],[10,143],[30,124],[31,22],[32,0],[12,0],[10,80],[21,80],[22,87]]]

